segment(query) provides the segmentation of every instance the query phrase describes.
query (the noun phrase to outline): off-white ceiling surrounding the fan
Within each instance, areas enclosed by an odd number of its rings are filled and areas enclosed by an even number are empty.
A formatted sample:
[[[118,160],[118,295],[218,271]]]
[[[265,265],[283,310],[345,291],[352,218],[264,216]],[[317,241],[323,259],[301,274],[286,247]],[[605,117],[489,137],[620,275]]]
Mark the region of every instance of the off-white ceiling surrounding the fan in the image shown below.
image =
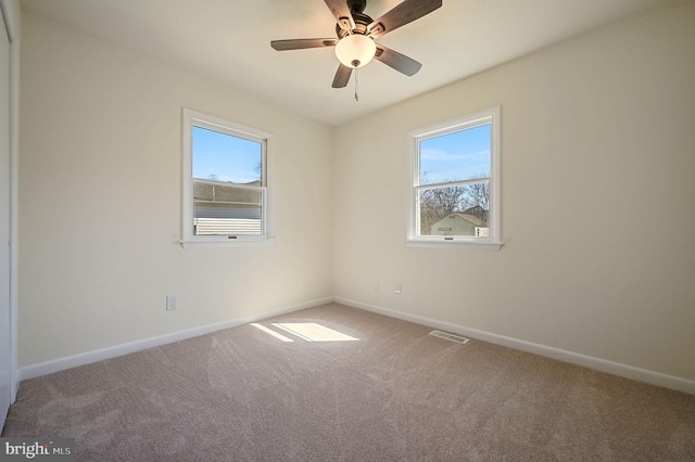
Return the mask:
[[[660,0],[443,0],[377,41],[422,63],[406,77],[374,61],[331,88],[333,49],[278,52],[270,40],[334,37],[323,0],[22,0],[77,29],[228,81],[337,126],[576,36]],[[368,0],[381,16],[401,0]]]

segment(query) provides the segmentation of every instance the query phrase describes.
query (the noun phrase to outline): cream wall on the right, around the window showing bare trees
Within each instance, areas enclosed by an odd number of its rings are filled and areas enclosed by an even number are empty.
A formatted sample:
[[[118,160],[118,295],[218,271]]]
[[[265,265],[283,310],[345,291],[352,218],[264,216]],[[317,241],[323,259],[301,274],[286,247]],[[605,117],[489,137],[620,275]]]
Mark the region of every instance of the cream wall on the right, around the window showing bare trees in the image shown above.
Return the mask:
[[[336,296],[695,380],[693,50],[665,2],[340,127]],[[494,105],[505,245],[406,247],[405,133]]]

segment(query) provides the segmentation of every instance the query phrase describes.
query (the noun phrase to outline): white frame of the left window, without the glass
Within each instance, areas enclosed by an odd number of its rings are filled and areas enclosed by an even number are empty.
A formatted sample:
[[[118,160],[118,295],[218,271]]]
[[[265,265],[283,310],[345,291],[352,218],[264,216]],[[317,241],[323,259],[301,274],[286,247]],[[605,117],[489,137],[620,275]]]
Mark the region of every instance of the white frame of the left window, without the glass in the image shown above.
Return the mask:
[[[193,247],[235,247],[264,245],[275,241],[275,201],[273,193],[273,143],[271,133],[235,124],[207,114],[184,108],[182,123],[182,192],[181,192],[181,245]],[[253,235],[195,235],[193,234],[193,127],[218,131],[237,138],[260,142],[262,153],[262,181],[264,204],[262,207],[262,234]]]

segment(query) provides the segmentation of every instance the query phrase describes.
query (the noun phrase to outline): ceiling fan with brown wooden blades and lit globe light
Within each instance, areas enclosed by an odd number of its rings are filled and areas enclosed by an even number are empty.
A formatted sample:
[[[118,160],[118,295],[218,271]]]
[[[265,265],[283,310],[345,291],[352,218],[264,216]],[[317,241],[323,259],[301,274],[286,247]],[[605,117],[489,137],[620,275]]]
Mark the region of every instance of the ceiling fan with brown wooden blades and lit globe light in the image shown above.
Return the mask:
[[[367,0],[324,1],[336,17],[338,38],[273,40],[270,47],[277,51],[336,47],[340,65],[333,88],[345,87],[352,70],[372,59],[406,76],[415,75],[422,67],[417,61],[377,43],[375,39],[431,13],[442,5],[442,0],[404,0],[376,21],[364,13]]]

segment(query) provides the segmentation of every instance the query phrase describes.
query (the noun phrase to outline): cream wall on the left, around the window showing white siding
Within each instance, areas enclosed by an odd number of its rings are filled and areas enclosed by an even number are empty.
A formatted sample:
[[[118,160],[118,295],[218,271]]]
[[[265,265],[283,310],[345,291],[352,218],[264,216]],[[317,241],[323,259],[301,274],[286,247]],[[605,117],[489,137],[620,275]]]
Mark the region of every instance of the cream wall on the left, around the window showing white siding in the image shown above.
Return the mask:
[[[20,367],[331,296],[332,129],[29,11],[22,34]],[[181,107],[274,133],[274,245],[178,244]]]

